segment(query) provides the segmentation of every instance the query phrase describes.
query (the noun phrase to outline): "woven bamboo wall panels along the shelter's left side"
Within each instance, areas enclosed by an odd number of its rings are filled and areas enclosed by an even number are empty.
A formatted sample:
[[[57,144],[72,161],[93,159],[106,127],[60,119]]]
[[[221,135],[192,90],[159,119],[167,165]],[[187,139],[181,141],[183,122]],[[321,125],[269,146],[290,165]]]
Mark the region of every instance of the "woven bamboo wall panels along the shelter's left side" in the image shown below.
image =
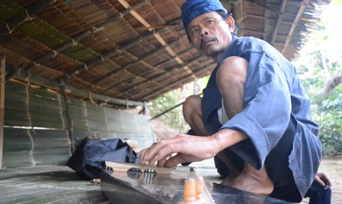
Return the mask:
[[[71,154],[71,141],[64,98],[16,82],[6,83],[5,96],[4,168],[65,164]],[[142,149],[155,139],[149,118],[144,115],[72,98],[69,107],[76,141],[85,136],[130,138]]]

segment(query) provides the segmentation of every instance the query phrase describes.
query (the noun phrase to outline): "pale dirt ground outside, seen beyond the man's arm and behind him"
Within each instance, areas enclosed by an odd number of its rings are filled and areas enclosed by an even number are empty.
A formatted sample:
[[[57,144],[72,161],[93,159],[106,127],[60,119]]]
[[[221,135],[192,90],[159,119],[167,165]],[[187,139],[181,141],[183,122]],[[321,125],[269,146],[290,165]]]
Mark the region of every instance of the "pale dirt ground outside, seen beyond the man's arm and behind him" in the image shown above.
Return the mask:
[[[158,139],[168,139],[179,133],[179,131],[167,127],[160,120],[153,121],[152,125]],[[342,204],[342,158],[323,158],[319,171],[327,173],[331,178],[333,184],[331,203]],[[309,199],[304,199],[301,202],[301,204],[304,203],[309,203]]]

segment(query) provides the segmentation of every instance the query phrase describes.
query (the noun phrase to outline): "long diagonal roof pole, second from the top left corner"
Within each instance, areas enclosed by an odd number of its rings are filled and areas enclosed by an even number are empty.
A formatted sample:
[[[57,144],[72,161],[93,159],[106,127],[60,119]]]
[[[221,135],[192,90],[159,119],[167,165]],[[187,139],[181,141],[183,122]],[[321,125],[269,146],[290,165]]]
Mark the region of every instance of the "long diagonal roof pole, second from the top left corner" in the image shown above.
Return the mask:
[[[69,48],[74,43],[79,42],[79,41],[83,40],[83,38],[86,38],[87,36],[92,35],[96,31],[98,31],[98,28],[106,26],[109,23],[113,23],[114,21],[117,21],[120,18],[123,18],[123,16],[125,16],[126,14],[129,14],[130,11],[140,8],[141,6],[147,4],[147,2],[150,2],[150,1],[152,1],[152,0],[141,1],[140,3],[135,4],[131,8],[125,9],[124,11],[120,12],[119,14],[115,14],[114,16],[108,18],[105,22],[99,23],[98,25],[94,26],[93,28],[91,28],[88,31],[84,31],[83,33],[76,36],[74,39],[71,39],[71,41],[63,43],[63,45],[58,46],[58,48],[56,48],[55,50],[51,50],[51,52],[46,53],[46,55],[41,56],[41,58],[34,60],[33,63],[31,63],[30,65],[27,65],[24,68],[24,70],[29,70],[34,65],[39,65],[39,64],[43,63],[43,61],[48,60],[49,58],[52,58],[53,56],[55,56],[56,53],[60,53],[61,51],[65,50],[66,48]],[[21,68],[21,69],[23,69],[23,68]],[[18,71],[18,69],[10,70],[10,72],[6,75],[6,80],[11,80],[11,78],[16,75],[17,71]]]

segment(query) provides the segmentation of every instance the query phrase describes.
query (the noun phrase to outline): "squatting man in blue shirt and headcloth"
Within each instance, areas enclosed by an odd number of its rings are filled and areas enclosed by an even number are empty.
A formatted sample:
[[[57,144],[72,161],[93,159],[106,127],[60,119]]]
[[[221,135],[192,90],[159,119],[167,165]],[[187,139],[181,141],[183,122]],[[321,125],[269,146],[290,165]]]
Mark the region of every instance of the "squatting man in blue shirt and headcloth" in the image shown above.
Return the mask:
[[[138,153],[165,168],[219,156],[222,184],[300,202],[321,162],[318,124],[296,68],[256,38],[237,38],[234,19],[217,0],[186,1],[182,20],[191,43],[217,63],[202,99],[188,97],[191,130]],[[177,153],[170,159],[167,157]]]

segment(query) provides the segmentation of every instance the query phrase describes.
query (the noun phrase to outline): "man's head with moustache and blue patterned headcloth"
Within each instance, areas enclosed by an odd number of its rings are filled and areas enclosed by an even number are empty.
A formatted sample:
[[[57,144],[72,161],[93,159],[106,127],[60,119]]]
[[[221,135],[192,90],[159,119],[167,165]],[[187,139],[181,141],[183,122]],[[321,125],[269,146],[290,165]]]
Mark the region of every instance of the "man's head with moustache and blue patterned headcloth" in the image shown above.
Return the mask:
[[[218,0],[186,1],[182,20],[189,40],[204,55],[217,58],[232,41],[234,19]]]

